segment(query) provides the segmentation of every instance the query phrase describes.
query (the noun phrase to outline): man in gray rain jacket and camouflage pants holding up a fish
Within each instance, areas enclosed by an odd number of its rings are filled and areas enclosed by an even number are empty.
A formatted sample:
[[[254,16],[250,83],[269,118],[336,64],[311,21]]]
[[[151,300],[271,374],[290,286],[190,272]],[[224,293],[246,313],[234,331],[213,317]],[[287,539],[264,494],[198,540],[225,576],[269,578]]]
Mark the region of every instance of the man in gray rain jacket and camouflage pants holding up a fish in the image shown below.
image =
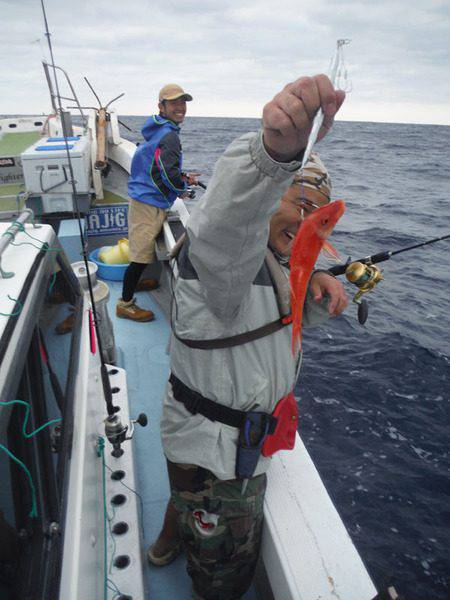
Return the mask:
[[[314,114],[323,108],[323,137],[343,100],[319,75],[289,84],[267,104],[263,130],[233,142],[218,161],[177,258],[172,375],[161,424],[171,500],[148,558],[168,564],[183,545],[196,598],[239,598],[254,573],[270,458],[258,452],[252,476],[239,477],[241,434],[231,423],[248,411],[270,415],[294,388],[299,356],[292,355],[291,326],[262,334],[280,319],[274,281],[280,274],[285,286],[288,281],[273,258],[289,256],[305,207],[329,201],[325,176],[317,190],[313,178],[300,196],[286,198]],[[316,272],[304,325],[340,314],[346,304],[342,284]],[[255,331],[261,336],[248,335]]]

